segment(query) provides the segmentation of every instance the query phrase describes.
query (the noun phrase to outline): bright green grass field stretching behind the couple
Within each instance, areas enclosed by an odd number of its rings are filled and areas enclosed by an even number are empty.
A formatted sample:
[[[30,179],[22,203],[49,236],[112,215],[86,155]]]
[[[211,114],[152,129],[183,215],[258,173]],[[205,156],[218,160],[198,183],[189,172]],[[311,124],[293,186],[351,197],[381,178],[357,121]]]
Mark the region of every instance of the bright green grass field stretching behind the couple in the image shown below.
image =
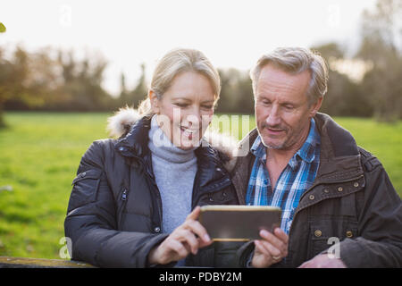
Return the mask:
[[[0,130],[0,256],[60,258],[59,241],[80,157],[106,137],[111,114],[7,113]],[[337,118],[379,157],[402,195],[402,122]],[[254,127],[250,118],[250,127]]]

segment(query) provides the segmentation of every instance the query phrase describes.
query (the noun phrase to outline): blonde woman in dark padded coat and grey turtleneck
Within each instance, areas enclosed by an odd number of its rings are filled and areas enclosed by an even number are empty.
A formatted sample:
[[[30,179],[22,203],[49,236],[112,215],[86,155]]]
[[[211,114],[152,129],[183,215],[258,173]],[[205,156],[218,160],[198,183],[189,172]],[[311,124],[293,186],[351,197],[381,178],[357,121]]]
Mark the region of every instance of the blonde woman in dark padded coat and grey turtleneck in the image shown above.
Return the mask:
[[[163,56],[139,114],[123,109],[109,120],[120,138],[96,140],[82,156],[64,223],[72,259],[101,267],[231,266],[230,249],[213,244],[197,222],[199,206],[238,204],[224,168],[229,157],[202,139],[220,89],[199,51]]]

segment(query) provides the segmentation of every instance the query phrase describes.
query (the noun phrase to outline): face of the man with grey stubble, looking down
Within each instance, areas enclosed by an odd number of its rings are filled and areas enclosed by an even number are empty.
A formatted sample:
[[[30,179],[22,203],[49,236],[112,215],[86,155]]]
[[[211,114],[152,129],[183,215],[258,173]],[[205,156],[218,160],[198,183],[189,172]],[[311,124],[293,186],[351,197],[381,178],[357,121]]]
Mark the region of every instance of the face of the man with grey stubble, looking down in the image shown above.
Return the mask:
[[[255,87],[255,121],[264,146],[297,150],[308,135],[310,119],[322,98],[310,104],[306,91],[310,72],[291,74],[265,65]]]

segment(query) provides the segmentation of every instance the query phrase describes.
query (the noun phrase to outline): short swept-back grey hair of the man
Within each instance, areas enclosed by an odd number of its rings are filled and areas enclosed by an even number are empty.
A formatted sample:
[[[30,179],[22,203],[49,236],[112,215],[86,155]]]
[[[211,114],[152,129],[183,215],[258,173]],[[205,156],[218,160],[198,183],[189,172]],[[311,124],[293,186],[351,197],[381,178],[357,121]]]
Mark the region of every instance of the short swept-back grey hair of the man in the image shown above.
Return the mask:
[[[279,47],[272,53],[261,56],[250,71],[254,94],[261,70],[267,64],[296,74],[306,70],[310,71],[311,80],[307,90],[310,104],[323,97],[327,92],[328,66],[321,55],[303,47]]]

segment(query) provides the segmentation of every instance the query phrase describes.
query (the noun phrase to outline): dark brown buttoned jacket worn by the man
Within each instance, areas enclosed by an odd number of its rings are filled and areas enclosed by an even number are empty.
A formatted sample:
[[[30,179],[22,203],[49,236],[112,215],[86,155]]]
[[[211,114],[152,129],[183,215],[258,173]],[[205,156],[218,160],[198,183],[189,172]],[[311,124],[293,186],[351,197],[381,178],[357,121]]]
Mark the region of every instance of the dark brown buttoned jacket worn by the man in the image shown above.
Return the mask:
[[[320,166],[297,206],[289,255],[272,266],[297,267],[331,248],[330,238],[338,238],[340,258],[348,267],[402,267],[402,204],[380,161],[357,147],[330,116],[316,114],[314,119],[322,140]],[[240,204],[245,204],[255,159],[249,147],[257,135],[252,130],[240,142],[247,156],[238,158],[232,172]],[[253,243],[240,248],[240,265],[253,248]]]

